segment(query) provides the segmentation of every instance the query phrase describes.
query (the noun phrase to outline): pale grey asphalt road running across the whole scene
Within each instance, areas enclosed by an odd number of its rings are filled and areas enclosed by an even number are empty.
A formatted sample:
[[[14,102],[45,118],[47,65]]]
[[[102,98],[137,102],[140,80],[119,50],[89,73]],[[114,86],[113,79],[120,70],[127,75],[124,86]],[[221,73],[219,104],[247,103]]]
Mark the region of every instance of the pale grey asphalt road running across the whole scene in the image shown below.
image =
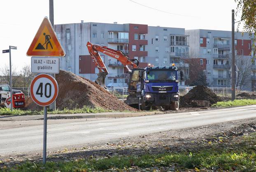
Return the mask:
[[[247,118],[256,118],[256,105],[129,118],[48,120],[47,149],[104,143],[123,137]],[[0,122],[0,155],[42,150],[43,120],[18,123]],[[12,125],[14,128],[10,127]]]

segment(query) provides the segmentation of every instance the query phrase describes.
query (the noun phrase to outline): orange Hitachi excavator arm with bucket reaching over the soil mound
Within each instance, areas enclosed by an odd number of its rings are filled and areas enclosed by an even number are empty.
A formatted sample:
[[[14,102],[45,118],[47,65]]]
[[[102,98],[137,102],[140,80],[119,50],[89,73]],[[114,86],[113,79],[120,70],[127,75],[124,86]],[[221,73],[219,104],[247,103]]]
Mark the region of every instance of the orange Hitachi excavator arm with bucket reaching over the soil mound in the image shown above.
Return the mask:
[[[87,42],[87,48],[88,52],[90,53],[91,57],[93,58],[96,66],[99,69],[98,78],[95,80],[95,83],[99,84],[103,88],[107,89],[105,85],[105,78],[108,74],[107,68],[102,61],[100,57],[100,53],[108,55],[109,57],[112,57],[114,59],[117,59],[120,61],[123,66],[126,66],[126,68],[131,72],[130,68],[128,66],[132,66],[132,68],[138,68],[139,61],[137,59],[129,59],[122,51],[120,50],[113,50],[111,48],[107,48],[106,46],[100,46],[95,45],[90,42]]]

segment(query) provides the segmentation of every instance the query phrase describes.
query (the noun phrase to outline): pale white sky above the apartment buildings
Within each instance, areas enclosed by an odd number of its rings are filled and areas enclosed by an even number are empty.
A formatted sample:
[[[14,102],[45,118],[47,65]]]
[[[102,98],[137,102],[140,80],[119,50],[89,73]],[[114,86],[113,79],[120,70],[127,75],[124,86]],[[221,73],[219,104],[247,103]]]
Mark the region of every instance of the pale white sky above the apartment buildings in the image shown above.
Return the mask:
[[[54,24],[84,20],[230,31],[232,9],[235,0],[54,0]],[[0,16],[0,68],[9,66],[9,53],[2,50],[12,45],[18,48],[12,50],[12,65],[20,70],[30,64],[26,52],[43,18],[49,17],[49,0],[2,0]]]

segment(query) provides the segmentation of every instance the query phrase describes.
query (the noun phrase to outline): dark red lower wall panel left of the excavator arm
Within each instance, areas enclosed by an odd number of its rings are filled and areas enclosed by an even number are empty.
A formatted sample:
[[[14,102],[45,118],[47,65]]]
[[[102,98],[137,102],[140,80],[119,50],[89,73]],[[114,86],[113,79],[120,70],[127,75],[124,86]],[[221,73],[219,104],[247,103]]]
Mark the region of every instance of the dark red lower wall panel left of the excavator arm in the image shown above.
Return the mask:
[[[79,74],[95,73],[96,65],[90,55],[79,56]]]

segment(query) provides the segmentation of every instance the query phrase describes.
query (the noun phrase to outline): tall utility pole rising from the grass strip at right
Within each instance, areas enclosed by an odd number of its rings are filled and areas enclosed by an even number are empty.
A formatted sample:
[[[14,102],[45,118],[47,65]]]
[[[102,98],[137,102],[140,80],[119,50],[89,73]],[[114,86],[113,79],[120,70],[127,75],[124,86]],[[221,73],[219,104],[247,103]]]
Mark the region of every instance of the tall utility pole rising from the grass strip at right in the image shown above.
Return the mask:
[[[235,11],[232,9],[232,67],[231,67],[231,82],[232,82],[232,97],[231,100],[234,101],[235,100]]]

